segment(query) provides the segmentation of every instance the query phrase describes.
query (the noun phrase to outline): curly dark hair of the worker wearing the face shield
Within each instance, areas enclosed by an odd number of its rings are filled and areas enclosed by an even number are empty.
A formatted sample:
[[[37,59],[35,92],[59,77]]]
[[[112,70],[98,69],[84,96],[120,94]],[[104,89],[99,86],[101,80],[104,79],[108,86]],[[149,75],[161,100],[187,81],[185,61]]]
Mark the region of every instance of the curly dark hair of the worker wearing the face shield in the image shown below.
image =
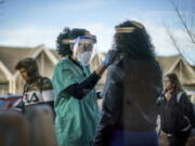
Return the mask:
[[[77,37],[83,36],[88,32],[89,31],[87,29],[74,28],[70,30],[68,27],[65,27],[65,29],[58,35],[56,39],[57,53],[62,56],[72,55],[73,52],[70,50],[70,44],[64,44],[62,40],[76,39]]]

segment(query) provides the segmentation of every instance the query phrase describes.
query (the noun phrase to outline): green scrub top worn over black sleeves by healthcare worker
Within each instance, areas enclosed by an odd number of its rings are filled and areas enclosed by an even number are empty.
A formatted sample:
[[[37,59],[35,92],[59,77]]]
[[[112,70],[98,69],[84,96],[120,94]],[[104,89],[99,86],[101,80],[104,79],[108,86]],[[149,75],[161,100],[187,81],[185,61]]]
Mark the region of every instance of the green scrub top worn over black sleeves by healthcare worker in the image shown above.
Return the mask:
[[[60,146],[90,146],[100,119],[95,90],[82,99],[77,99],[64,90],[74,83],[82,82],[90,76],[89,66],[82,70],[68,57],[60,61],[54,69],[52,83],[56,98],[55,129]]]

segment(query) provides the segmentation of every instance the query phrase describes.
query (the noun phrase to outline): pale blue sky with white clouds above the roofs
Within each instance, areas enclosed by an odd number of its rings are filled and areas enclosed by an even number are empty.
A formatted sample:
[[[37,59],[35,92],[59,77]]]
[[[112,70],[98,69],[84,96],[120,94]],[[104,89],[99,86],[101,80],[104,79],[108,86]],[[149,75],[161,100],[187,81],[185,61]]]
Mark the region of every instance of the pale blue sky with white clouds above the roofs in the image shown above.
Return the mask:
[[[2,1],[2,0],[0,0]],[[0,4],[0,45],[55,49],[57,35],[65,28],[86,28],[98,37],[101,52],[110,49],[115,26],[133,19],[142,23],[157,55],[173,55],[177,50],[165,25],[195,56],[194,45],[181,29],[173,1],[187,16],[195,15],[195,0],[3,0]],[[194,9],[194,10],[193,10]],[[186,52],[185,52],[186,53]]]

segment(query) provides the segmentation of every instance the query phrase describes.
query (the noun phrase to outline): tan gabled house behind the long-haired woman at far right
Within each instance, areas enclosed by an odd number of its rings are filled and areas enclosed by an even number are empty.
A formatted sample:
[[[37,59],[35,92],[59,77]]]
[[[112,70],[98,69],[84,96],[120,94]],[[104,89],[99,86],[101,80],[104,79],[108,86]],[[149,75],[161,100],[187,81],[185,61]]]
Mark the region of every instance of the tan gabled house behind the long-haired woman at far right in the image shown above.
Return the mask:
[[[105,57],[105,54],[102,55],[102,61]],[[195,104],[195,65],[188,64],[181,55],[172,56],[156,56],[157,62],[159,63],[164,76],[169,72],[174,72],[178,75],[183,89],[191,96],[191,101]],[[100,85],[103,85],[106,79],[106,74],[102,77],[102,82]]]

